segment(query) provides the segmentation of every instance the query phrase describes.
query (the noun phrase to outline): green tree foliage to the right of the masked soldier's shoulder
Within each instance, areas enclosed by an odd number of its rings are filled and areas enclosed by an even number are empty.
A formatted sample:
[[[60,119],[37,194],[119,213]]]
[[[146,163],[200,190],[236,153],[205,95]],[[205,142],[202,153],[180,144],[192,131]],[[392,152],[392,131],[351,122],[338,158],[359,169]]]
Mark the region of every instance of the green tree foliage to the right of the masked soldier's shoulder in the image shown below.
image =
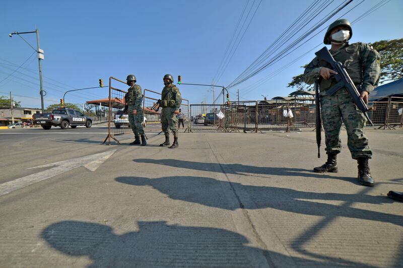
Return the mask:
[[[403,78],[403,38],[370,44],[381,55],[381,83]]]

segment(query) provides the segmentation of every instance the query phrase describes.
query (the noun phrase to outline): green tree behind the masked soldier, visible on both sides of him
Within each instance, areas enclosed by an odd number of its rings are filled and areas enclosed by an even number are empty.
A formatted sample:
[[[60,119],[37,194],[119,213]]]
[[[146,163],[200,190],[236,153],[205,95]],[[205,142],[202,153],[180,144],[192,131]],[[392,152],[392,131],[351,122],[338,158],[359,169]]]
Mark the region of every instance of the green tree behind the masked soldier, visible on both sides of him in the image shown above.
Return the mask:
[[[380,40],[374,42],[372,47],[381,55],[380,67],[381,77],[380,83],[386,81],[395,81],[403,78],[403,38],[393,40]],[[301,68],[305,69],[305,66]],[[296,88],[298,90],[312,90],[312,85],[304,83],[304,75],[298,75],[292,78],[288,84],[288,88]]]

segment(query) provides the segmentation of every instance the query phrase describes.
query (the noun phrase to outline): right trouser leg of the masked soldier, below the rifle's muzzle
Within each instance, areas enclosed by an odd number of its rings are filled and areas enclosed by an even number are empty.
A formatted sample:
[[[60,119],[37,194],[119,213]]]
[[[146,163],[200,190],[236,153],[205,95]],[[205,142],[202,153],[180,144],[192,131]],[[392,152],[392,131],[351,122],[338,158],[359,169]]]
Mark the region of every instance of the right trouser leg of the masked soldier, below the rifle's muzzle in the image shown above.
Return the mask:
[[[348,142],[347,145],[353,159],[371,158],[372,151],[368,146],[368,138],[364,133],[365,116],[357,108],[350,95],[339,95],[340,110],[343,122],[346,125]]]

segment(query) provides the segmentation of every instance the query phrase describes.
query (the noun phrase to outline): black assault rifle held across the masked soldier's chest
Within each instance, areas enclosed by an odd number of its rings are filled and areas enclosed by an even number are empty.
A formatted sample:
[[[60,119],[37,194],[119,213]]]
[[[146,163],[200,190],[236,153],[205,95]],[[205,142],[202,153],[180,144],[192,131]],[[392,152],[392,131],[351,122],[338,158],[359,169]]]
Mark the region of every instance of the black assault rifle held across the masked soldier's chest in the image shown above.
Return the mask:
[[[334,60],[327,47],[323,47],[319,51],[315,52],[315,55],[330,63],[332,70],[338,73],[337,75],[332,75],[332,79],[334,79],[337,84],[326,90],[326,95],[332,96],[339,89],[346,88],[350,96],[353,98],[354,103],[357,105],[358,109],[363,112],[365,118],[367,118],[368,123],[373,126],[374,124],[369,119],[367,114],[367,111],[370,109],[365,104],[364,100],[360,98],[360,93],[358,92],[356,86],[347,73],[345,66],[343,66],[341,62]]]

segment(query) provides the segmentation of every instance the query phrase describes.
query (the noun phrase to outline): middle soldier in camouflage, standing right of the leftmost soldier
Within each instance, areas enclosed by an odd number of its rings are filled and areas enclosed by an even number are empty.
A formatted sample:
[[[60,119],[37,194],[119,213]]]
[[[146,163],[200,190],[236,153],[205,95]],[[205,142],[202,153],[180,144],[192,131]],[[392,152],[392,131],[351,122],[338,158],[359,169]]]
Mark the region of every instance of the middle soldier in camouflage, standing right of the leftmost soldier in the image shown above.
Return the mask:
[[[178,144],[178,116],[179,107],[182,103],[179,89],[173,85],[171,75],[164,76],[164,89],[161,93],[161,124],[162,131],[165,133],[165,142],[160,146],[169,146],[169,129],[173,132],[173,144],[169,148],[177,148]]]

